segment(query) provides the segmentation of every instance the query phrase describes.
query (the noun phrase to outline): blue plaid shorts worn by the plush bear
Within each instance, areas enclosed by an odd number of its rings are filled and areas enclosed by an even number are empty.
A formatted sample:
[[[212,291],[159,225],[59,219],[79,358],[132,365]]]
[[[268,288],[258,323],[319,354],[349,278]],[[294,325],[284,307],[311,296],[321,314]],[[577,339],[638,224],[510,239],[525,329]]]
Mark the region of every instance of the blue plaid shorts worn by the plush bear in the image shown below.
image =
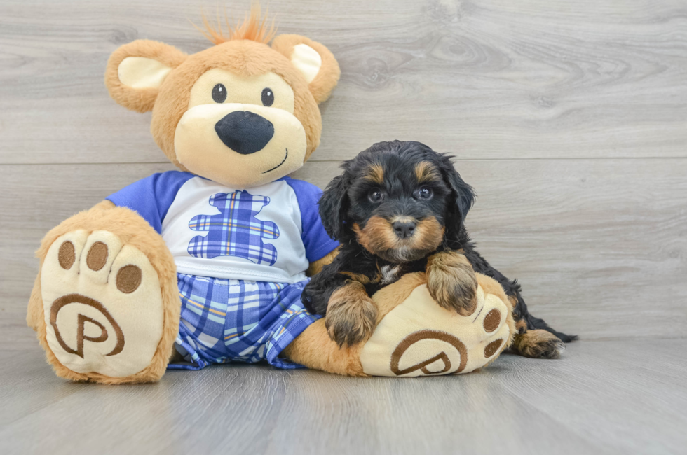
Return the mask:
[[[301,303],[308,282],[268,283],[177,274],[182,316],[175,347],[185,363],[173,370],[200,370],[213,363],[256,363],[299,368],[279,354],[320,316]]]

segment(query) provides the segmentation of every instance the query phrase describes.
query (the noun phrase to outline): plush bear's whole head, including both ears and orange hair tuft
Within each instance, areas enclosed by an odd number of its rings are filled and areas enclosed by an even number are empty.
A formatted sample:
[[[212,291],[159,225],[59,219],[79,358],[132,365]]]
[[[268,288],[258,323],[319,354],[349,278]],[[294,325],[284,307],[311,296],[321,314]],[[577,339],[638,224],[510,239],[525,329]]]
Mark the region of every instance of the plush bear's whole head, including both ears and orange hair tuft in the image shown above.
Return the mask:
[[[227,186],[279,179],[320,143],[318,104],[339,80],[325,46],[280,35],[253,10],[229,36],[208,26],[215,45],[186,55],[137,40],[110,57],[105,85],[116,102],[153,111],[151,133],[177,167]]]

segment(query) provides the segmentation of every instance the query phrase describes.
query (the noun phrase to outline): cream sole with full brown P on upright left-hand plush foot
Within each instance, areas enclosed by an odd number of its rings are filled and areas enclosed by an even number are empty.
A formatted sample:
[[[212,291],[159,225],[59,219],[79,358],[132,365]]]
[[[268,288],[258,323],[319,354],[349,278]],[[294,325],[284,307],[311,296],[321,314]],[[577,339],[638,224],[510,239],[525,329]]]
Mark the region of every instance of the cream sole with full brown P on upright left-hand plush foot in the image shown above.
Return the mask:
[[[148,258],[111,232],[58,238],[41,269],[50,351],[79,373],[125,377],[147,367],[163,332],[160,281]]]

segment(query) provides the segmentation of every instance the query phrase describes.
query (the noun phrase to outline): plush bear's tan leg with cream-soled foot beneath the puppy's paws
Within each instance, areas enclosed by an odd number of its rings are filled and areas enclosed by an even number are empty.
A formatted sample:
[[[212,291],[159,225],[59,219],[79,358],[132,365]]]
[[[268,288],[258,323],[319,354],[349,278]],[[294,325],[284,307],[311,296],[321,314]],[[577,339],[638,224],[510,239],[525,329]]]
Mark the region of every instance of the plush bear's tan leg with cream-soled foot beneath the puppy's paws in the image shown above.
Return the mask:
[[[365,344],[339,349],[324,321],[287,346],[294,362],[348,376],[419,376],[470,372],[489,365],[515,334],[512,306],[494,279],[477,274],[477,307],[461,316],[432,300],[423,273],[376,293],[377,328]]]

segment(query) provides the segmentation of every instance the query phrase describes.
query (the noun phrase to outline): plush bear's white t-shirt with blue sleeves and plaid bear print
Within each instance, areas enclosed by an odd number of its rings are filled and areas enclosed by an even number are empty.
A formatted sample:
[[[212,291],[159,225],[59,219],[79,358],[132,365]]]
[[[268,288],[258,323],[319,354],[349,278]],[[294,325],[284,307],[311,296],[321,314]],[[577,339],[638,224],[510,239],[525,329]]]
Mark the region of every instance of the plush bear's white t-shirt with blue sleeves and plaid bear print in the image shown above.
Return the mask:
[[[154,174],[107,197],[159,232],[177,272],[297,283],[309,262],[334,250],[318,213],[322,190],[283,177],[229,188],[189,172]]]

